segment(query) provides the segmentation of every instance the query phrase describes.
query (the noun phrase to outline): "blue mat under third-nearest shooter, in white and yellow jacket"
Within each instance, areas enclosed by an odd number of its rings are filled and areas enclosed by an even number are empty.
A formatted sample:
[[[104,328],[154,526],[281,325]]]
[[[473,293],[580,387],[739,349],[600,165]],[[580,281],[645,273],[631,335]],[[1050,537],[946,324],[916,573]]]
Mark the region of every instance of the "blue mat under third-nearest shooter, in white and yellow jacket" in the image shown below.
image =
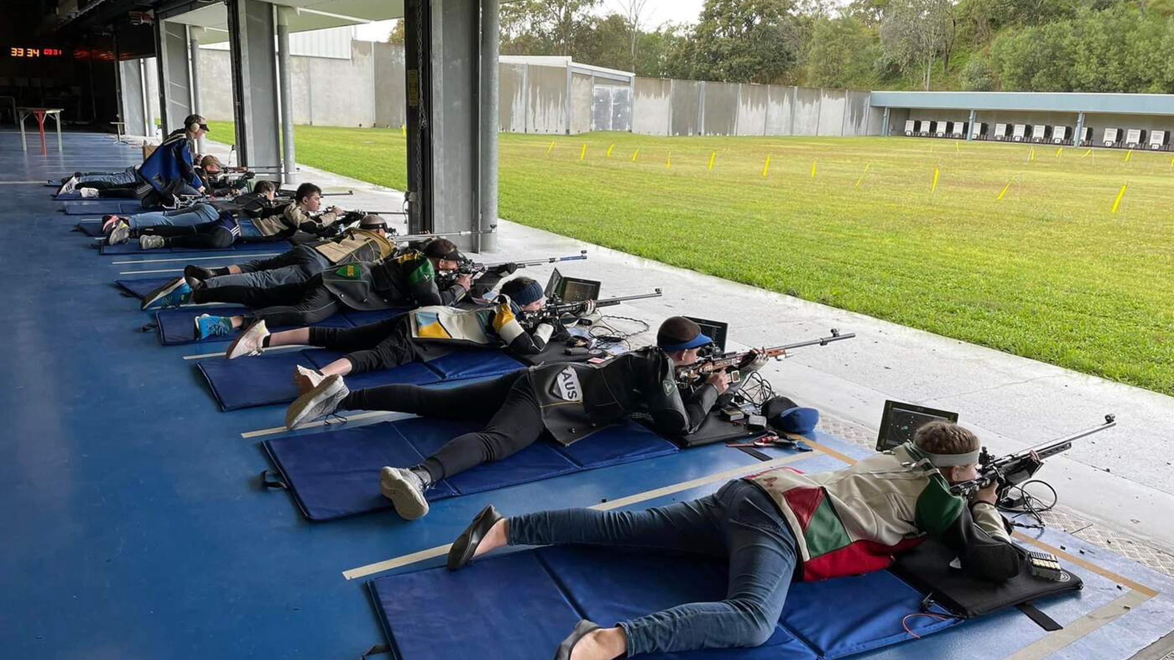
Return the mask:
[[[238,410],[256,405],[289,403],[297,398],[294,368],[302,365],[322,369],[343,353],[324,349],[266,352],[259,356],[224,359],[202,359],[196,368],[212,390],[221,410]],[[430,385],[443,380],[461,380],[498,376],[522,369],[522,364],[502,351],[458,349],[429,362],[412,362],[396,366],[348,376],[352,390],[390,385]]]

